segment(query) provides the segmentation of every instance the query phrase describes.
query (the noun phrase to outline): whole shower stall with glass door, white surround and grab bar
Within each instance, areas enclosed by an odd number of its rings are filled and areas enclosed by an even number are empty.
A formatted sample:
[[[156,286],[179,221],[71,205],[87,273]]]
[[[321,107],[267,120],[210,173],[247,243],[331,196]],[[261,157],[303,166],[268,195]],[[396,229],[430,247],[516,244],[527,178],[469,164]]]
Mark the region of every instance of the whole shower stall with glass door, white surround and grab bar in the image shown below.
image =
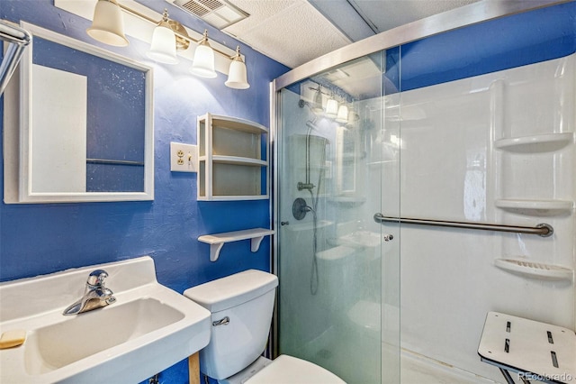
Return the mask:
[[[574,327],[572,278],[507,266],[573,274],[575,17],[480,2],[275,80],[276,354],[348,383],[482,382],[488,311]]]

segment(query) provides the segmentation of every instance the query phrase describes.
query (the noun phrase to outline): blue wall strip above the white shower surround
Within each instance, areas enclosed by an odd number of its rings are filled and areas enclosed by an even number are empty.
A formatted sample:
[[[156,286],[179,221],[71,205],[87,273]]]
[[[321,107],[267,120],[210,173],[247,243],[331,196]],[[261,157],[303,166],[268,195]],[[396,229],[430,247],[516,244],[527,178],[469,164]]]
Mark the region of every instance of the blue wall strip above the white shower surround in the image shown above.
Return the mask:
[[[390,50],[384,86],[387,93],[408,91],[558,59],[574,51],[576,2],[572,1],[404,44],[400,60],[397,49]]]

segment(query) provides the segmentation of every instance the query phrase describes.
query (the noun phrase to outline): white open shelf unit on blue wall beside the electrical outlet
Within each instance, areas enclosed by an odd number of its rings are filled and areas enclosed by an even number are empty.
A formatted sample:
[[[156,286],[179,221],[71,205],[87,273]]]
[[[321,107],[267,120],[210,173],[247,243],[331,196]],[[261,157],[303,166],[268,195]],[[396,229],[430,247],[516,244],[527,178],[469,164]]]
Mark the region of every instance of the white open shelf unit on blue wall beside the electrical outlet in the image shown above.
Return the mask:
[[[198,200],[268,198],[268,129],[235,117],[198,117]]]

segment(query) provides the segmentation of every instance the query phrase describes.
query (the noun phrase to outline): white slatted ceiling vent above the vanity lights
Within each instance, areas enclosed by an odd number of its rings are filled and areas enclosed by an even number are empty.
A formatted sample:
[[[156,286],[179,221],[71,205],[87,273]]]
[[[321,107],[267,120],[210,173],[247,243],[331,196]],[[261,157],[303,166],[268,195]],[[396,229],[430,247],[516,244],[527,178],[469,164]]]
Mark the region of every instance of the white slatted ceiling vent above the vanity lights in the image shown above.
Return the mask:
[[[219,30],[223,30],[249,16],[226,0],[166,0],[166,2],[183,9],[184,12],[192,14]]]

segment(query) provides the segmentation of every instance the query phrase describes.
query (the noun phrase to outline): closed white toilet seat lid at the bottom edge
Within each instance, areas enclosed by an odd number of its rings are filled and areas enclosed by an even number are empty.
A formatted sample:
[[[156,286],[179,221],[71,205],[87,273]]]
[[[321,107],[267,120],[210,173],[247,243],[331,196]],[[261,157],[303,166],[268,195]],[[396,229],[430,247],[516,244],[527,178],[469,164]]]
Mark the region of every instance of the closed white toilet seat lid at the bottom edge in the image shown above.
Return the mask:
[[[329,370],[288,355],[280,355],[263,370],[246,381],[246,384],[346,384]]]

